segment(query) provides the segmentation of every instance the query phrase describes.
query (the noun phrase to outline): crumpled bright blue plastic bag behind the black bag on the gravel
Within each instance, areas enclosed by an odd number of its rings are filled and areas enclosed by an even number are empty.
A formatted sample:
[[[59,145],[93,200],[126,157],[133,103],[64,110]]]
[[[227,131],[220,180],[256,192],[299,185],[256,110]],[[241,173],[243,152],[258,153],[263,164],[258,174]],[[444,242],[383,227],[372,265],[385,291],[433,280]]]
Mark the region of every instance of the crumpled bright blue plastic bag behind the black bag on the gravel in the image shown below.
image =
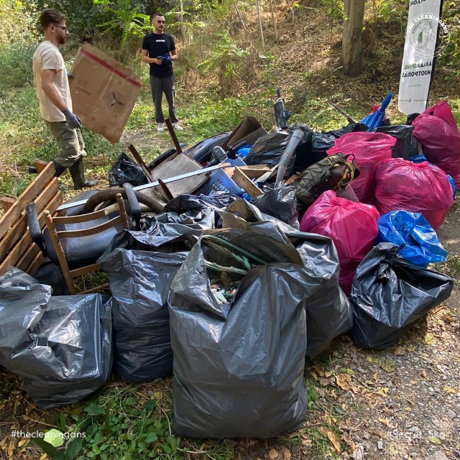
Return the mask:
[[[377,243],[405,244],[399,255],[420,267],[447,260],[438,235],[423,217],[422,213],[392,211],[380,216]]]

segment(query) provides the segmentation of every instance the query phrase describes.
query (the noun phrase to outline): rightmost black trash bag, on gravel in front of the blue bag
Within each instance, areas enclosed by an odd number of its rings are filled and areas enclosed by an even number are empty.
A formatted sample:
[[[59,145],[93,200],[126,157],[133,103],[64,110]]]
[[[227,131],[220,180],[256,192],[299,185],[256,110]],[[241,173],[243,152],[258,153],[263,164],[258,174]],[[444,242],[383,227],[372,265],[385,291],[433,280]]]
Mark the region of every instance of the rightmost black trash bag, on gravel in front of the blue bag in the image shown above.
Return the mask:
[[[392,347],[414,321],[452,291],[452,278],[410,264],[398,254],[399,249],[392,243],[379,243],[356,269],[350,335],[357,347]]]

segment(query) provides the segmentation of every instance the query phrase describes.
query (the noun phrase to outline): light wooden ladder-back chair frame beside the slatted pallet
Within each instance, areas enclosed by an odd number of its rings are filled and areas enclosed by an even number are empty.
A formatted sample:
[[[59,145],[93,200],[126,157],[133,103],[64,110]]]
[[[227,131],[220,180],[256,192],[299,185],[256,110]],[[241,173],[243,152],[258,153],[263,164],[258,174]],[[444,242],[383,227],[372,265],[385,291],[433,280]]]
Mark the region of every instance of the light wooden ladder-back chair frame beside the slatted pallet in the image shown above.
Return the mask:
[[[116,216],[111,217],[113,213],[115,213]],[[65,283],[67,285],[68,291],[71,294],[77,293],[77,288],[74,283],[75,278],[81,277],[86,273],[98,271],[101,269],[101,266],[98,263],[90,263],[82,267],[70,269],[63,248],[65,247],[65,244],[61,244],[61,240],[64,238],[83,238],[91,235],[96,235],[120,224],[123,226],[123,228],[129,229],[129,220],[126,214],[125,203],[121,193],[117,194],[117,202],[115,204],[112,204],[111,206],[108,206],[108,208],[101,209],[94,213],[82,214],[78,216],[52,217],[51,213],[48,210],[45,210],[43,211],[43,214],[45,216],[45,223],[47,225],[48,232],[53,243],[57,259],[59,261],[59,265],[64,275]],[[65,224],[68,227],[68,224],[100,222],[101,218],[104,217],[105,219],[102,219],[102,223],[96,224],[94,226],[88,227],[83,225],[84,228],[72,230],[65,229],[63,231],[59,231],[58,229],[61,224]],[[85,289],[81,292],[93,292],[97,289],[100,289],[101,287],[102,286],[95,286],[90,289]]]

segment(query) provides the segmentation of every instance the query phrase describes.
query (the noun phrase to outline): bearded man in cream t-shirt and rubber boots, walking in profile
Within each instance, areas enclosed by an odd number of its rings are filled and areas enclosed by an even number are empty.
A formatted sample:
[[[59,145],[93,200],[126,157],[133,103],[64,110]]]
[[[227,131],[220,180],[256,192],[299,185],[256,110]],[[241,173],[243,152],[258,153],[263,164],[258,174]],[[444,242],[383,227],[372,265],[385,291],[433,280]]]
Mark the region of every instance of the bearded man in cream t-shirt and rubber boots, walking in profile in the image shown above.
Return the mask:
[[[59,177],[67,168],[74,181],[74,190],[93,187],[97,179],[85,179],[83,157],[85,143],[80,132],[81,121],[72,112],[72,98],[68,77],[59,45],[67,39],[68,30],[65,15],[48,8],[40,15],[44,41],[35,50],[32,63],[35,90],[40,105],[40,115],[61,148],[53,158]]]

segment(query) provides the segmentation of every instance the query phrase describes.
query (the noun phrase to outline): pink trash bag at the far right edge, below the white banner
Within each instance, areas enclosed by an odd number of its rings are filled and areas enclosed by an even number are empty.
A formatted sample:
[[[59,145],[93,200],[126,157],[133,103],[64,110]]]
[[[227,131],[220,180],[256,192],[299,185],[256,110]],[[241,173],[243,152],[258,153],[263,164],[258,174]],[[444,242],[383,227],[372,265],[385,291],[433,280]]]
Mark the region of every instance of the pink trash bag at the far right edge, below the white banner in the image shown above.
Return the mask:
[[[460,188],[460,133],[447,101],[428,107],[412,125],[428,161],[452,176]]]

